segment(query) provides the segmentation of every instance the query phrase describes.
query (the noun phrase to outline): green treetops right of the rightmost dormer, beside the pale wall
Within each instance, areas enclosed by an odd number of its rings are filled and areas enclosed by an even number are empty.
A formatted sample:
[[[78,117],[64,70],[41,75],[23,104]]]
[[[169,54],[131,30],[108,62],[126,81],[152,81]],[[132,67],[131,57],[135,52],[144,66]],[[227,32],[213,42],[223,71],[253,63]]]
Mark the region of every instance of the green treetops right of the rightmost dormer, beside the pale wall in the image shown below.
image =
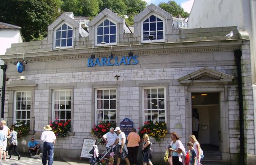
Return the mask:
[[[189,14],[185,12],[184,9],[174,1],[169,1],[167,3],[160,3],[158,6],[163,10],[167,11],[168,13],[172,14],[174,17],[178,17],[179,14],[183,18],[186,18],[189,16]]]

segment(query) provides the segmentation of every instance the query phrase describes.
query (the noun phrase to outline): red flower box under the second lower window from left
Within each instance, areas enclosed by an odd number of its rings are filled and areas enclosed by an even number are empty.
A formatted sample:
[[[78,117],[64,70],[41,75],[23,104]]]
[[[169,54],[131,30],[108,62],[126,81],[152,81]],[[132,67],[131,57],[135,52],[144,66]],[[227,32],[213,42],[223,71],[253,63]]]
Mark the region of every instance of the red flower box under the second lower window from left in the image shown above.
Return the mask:
[[[71,132],[71,121],[70,120],[58,120],[50,121],[49,124],[52,127],[52,131],[56,137],[66,137]]]

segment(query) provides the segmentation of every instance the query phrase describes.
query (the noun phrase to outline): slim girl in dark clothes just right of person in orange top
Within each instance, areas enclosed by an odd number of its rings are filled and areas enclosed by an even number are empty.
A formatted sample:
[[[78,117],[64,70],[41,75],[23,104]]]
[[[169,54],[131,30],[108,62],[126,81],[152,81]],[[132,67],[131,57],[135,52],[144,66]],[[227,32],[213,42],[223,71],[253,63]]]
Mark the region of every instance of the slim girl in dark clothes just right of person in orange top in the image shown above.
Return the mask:
[[[148,135],[145,133],[143,134],[143,139],[145,142],[142,151],[143,165],[146,165],[146,162],[148,162],[148,164],[150,165],[153,165],[153,163],[151,162],[152,154],[150,146],[152,145],[152,143],[150,142],[150,137],[148,137]]]

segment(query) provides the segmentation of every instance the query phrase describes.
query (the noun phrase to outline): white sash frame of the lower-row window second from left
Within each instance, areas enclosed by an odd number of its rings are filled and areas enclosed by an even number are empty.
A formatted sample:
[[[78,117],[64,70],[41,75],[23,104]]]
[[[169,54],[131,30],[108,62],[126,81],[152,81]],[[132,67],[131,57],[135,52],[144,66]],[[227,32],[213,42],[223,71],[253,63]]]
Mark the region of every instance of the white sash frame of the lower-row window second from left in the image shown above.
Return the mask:
[[[59,99],[57,101],[65,101],[65,105],[66,105],[66,101],[70,101],[70,109],[56,109],[55,110],[55,91],[61,92],[61,91],[70,91],[70,95],[71,95],[71,100],[67,100],[66,96],[64,100],[60,100],[60,95],[59,95]],[[56,120],[56,116],[55,116],[55,111],[70,111],[70,119],[67,119],[67,116],[65,116],[65,119],[58,119],[57,121],[67,121],[67,120],[71,120],[72,121],[72,90],[71,89],[53,89],[52,90],[52,121]],[[60,117],[60,116],[59,116]]]

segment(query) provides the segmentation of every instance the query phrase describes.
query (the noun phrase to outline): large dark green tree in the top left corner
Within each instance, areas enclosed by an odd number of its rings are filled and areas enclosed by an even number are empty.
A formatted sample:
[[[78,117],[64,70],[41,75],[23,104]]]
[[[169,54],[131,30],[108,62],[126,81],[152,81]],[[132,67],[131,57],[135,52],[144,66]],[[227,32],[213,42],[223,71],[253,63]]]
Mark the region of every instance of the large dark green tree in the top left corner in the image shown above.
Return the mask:
[[[60,0],[2,0],[0,21],[22,27],[25,41],[46,37],[47,27],[60,15]]]

